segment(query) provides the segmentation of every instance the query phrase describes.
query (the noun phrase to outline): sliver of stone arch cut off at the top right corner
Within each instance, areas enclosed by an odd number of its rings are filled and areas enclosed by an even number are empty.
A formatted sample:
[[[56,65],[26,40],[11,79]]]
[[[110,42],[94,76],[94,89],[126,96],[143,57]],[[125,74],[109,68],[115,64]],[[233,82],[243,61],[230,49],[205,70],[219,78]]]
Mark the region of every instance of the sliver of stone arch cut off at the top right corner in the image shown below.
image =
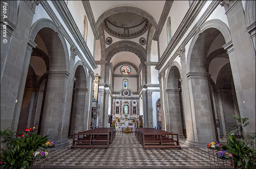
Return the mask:
[[[247,27],[255,22],[255,3],[255,1],[245,1],[245,23]]]

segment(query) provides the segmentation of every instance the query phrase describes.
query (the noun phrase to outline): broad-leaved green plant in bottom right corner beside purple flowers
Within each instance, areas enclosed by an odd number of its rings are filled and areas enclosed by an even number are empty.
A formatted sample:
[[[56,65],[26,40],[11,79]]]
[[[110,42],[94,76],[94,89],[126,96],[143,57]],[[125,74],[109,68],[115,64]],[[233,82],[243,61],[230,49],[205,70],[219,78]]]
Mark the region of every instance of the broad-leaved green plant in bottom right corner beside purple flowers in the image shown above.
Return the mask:
[[[233,154],[235,168],[255,168],[255,149],[248,147],[242,139],[237,140],[228,134],[227,145],[222,145],[222,148]]]

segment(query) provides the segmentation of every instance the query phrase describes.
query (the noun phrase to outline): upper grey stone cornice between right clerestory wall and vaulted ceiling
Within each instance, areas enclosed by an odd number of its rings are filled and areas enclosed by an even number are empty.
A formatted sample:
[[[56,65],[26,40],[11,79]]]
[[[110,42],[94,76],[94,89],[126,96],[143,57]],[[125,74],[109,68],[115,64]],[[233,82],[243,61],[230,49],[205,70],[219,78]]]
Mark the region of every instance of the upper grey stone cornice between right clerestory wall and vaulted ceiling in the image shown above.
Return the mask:
[[[153,40],[157,40],[159,35],[161,34],[161,32],[163,30],[163,27],[164,27],[164,24],[166,22],[166,19],[168,17],[168,14],[169,14],[169,12],[170,12],[170,10],[172,8],[173,2],[174,1],[170,1],[170,0],[165,1],[161,17],[160,17],[160,19],[158,21],[157,28],[156,28],[155,34],[153,36]]]

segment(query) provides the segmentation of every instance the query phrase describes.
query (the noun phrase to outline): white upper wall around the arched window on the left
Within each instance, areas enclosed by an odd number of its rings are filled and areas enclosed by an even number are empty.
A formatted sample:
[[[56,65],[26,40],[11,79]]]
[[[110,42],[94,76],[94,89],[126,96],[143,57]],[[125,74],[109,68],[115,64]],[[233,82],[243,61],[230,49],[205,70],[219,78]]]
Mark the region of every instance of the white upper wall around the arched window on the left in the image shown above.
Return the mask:
[[[71,15],[73,16],[75,23],[83,36],[83,24],[84,24],[84,16],[87,18],[88,30],[87,30],[87,41],[85,42],[88,46],[91,53],[93,53],[93,43],[94,43],[94,35],[92,32],[92,28],[90,22],[88,20],[88,16],[83,7],[82,1],[68,1],[67,7],[70,10]]]

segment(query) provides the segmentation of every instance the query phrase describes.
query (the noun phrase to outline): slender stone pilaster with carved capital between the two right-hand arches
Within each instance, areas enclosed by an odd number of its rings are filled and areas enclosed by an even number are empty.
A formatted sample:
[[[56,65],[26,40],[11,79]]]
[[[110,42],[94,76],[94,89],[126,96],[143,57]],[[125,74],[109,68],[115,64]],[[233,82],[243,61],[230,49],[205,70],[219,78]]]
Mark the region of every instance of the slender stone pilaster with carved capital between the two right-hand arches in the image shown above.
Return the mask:
[[[185,59],[185,47],[182,46],[179,50],[179,57],[181,60],[181,78],[182,78],[182,101],[183,101],[183,111],[186,125],[187,140],[186,144],[194,145],[196,128],[194,126],[195,117],[191,113],[191,103],[188,88],[188,78],[186,76],[186,59]]]

